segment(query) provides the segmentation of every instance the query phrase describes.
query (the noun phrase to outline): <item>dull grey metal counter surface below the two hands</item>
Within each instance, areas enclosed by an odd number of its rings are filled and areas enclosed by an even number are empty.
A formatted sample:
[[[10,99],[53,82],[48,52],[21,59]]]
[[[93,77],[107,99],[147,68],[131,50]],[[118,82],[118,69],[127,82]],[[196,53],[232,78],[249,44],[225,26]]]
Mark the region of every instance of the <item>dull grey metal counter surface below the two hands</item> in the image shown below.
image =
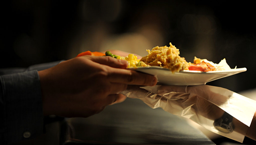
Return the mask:
[[[62,144],[215,144],[186,120],[139,99],[107,106],[88,118],[66,119]]]

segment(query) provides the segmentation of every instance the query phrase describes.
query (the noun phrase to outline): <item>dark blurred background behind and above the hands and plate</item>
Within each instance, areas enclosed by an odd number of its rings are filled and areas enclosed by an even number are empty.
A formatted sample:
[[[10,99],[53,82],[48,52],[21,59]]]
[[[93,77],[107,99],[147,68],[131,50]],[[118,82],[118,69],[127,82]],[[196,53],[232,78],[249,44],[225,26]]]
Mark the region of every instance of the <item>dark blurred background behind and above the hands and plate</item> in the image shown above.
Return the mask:
[[[1,2],[1,68],[70,59],[86,50],[146,55],[169,45],[247,71],[208,83],[232,91],[255,88],[255,10],[250,1]],[[137,48],[139,47],[139,49]],[[145,52],[145,53],[142,53]]]

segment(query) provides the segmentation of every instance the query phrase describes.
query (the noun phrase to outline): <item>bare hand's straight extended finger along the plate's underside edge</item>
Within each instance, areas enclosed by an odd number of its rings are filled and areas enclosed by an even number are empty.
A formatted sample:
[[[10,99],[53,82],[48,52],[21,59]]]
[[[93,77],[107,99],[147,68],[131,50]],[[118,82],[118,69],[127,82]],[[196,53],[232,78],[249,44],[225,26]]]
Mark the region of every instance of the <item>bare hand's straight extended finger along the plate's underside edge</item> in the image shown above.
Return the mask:
[[[142,86],[154,86],[157,83],[156,77],[149,74],[127,69],[112,69],[110,71],[108,79],[111,82]]]

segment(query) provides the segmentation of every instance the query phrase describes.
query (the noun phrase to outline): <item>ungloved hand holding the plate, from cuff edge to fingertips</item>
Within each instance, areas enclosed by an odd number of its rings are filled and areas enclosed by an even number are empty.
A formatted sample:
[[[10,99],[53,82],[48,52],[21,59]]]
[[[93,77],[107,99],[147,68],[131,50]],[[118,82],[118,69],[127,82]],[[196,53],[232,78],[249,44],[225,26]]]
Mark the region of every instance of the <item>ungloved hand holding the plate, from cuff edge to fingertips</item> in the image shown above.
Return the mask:
[[[154,86],[157,79],[125,69],[127,61],[81,56],[38,71],[44,115],[88,117],[125,98],[127,84]]]

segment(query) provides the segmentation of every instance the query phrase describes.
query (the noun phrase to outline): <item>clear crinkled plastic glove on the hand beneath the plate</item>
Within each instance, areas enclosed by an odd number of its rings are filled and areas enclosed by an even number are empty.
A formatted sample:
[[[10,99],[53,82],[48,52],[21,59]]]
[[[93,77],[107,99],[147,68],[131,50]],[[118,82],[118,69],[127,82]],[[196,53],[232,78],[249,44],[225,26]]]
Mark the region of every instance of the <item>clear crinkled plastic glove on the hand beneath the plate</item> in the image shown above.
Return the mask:
[[[201,86],[128,86],[127,97],[139,98],[151,108],[163,108],[174,115],[189,118],[206,129],[242,142],[256,111],[256,101],[228,89]],[[214,121],[224,112],[233,116],[233,132],[224,133]]]

